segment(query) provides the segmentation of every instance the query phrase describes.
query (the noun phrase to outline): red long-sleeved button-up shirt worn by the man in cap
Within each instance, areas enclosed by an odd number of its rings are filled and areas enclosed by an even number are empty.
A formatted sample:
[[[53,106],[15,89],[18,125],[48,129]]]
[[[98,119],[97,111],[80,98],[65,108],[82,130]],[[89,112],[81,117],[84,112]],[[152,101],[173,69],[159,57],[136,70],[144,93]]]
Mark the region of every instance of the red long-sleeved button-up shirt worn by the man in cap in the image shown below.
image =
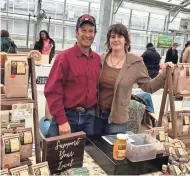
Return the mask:
[[[100,56],[93,51],[86,56],[77,44],[56,57],[44,94],[59,125],[67,121],[64,108],[90,108],[97,103],[99,75]]]

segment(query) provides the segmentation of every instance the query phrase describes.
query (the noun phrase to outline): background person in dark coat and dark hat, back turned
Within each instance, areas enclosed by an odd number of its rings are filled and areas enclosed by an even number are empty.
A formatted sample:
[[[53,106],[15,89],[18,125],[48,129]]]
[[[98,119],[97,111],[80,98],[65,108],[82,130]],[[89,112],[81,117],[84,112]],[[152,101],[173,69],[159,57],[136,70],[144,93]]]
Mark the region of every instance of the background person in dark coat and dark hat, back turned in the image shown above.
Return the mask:
[[[146,49],[147,50],[143,53],[141,57],[143,58],[144,64],[148,70],[148,75],[153,79],[159,73],[159,64],[161,57],[152,43],[148,43]]]

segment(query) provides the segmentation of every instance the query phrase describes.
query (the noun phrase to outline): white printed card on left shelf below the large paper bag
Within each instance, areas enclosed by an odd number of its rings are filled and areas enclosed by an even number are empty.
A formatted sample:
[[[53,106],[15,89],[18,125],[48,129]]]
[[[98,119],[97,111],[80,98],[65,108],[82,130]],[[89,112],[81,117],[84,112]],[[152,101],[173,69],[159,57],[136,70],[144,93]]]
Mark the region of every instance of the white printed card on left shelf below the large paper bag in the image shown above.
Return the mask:
[[[12,121],[23,120],[33,117],[33,103],[13,104],[12,105]]]

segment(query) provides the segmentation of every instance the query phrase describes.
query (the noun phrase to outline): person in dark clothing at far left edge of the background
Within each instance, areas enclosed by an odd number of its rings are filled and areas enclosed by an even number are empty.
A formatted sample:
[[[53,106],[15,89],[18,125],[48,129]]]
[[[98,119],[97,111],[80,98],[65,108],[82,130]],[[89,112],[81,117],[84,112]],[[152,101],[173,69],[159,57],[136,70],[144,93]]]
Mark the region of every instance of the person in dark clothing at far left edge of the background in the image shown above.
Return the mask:
[[[11,40],[7,30],[1,30],[1,52],[16,53],[17,46]]]

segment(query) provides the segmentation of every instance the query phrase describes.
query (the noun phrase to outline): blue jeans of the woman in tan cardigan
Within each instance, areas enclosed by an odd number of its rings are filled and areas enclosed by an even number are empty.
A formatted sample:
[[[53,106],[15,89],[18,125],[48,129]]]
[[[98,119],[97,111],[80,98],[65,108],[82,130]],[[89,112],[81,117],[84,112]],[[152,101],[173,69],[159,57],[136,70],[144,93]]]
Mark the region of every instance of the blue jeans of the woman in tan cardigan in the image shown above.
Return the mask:
[[[126,133],[127,123],[116,124],[108,123],[108,118],[110,115],[110,110],[100,110],[100,117],[95,119],[94,134],[117,134]]]

